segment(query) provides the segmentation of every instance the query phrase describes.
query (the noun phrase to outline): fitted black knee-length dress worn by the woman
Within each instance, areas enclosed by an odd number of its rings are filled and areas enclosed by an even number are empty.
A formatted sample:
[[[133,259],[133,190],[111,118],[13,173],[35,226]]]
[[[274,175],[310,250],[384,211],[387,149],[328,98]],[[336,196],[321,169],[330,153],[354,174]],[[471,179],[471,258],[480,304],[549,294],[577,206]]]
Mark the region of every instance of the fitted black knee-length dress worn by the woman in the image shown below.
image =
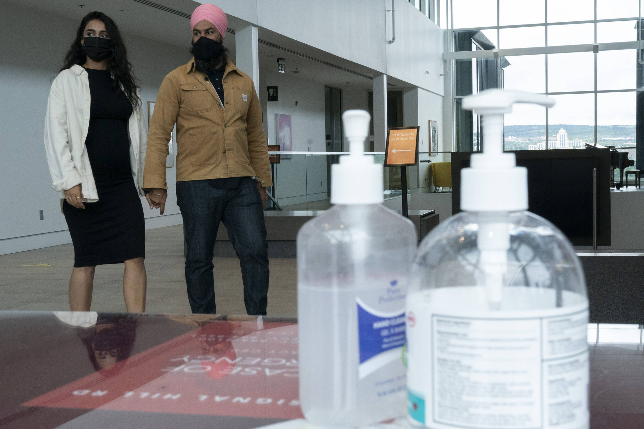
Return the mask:
[[[74,266],[118,264],[145,257],[143,208],[129,161],[132,104],[112,89],[107,70],[86,69],[90,79],[90,127],[85,146],[99,201],[62,207],[74,246]]]

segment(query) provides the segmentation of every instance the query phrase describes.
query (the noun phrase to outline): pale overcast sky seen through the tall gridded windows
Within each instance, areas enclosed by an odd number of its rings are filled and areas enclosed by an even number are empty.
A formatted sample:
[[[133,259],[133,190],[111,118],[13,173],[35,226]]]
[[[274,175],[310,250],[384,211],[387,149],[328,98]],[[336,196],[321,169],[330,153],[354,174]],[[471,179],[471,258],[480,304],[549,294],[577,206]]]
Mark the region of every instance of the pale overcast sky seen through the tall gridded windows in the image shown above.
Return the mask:
[[[545,22],[545,0],[498,0],[500,25]],[[441,11],[449,0],[441,0]],[[550,0],[548,22],[594,19],[594,0]],[[597,0],[597,19],[638,17],[639,0]],[[453,0],[454,28],[497,25],[497,0]],[[442,14],[443,15],[443,14]],[[442,26],[445,27],[444,17]],[[635,41],[636,20],[597,24],[597,41]],[[545,26],[483,30],[498,48],[546,46]],[[594,42],[594,24],[548,26],[547,46]],[[504,87],[545,92],[545,55],[506,57]],[[597,89],[636,87],[636,50],[600,51],[597,54]],[[591,52],[548,55],[548,91],[594,90],[594,54]],[[594,95],[553,95],[556,105],[550,123],[594,124]],[[634,125],[635,93],[598,94],[598,125]],[[545,123],[545,109],[522,105],[506,115],[506,125]]]

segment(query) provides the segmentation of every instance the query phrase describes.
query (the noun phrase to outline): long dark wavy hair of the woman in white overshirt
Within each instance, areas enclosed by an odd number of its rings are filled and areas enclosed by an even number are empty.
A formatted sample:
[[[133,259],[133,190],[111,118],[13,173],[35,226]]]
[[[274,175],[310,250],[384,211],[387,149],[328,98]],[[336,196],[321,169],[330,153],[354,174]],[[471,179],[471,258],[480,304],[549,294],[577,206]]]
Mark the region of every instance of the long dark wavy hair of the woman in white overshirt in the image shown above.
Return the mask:
[[[108,59],[108,70],[115,78],[115,82],[113,82],[114,87],[112,89],[114,89],[115,92],[119,92],[120,87],[118,84],[120,84],[120,86],[123,87],[123,92],[129,98],[132,105],[135,108],[140,107],[141,100],[137,95],[137,89],[139,87],[137,85],[137,78],[134,76],[134,73],[132,73],[132,64],[128,61],[128,50],[125,48],[125,44],[120,32],[118,31],[117,24],[115,24],[114,21],[103,12],[90,12],[82,19],[81,25],[79,25],[78,30],[76,30],[76,37],[71,44],[71,48],[67,52],[67,55],[65,55],[64,66],[62,66],[61,71],[70,68],[74,64],[78,64],[79,66],[85,64],[86,55],[82,50],[81,40],[85,27],[94,19],[102,21],[102,23],[105,24],[105,29],[109,33],[109,42],[111,44],[112,54]]]

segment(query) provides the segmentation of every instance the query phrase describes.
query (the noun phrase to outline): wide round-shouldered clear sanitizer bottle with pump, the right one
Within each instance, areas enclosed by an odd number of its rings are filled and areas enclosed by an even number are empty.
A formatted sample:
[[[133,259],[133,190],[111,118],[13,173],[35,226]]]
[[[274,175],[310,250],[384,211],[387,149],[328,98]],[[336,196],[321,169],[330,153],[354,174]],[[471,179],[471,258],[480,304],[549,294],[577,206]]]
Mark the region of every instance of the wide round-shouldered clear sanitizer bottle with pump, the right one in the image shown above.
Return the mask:
[[[460,207],[421,243],[407,298],[408,415],[432,429],[589,427],[588,300],[562,232],[527,210],[527,169],[502,151],[503,114],[544,95],[490,89],[484,149]],[[554,190],[553,192],[556,192]]]

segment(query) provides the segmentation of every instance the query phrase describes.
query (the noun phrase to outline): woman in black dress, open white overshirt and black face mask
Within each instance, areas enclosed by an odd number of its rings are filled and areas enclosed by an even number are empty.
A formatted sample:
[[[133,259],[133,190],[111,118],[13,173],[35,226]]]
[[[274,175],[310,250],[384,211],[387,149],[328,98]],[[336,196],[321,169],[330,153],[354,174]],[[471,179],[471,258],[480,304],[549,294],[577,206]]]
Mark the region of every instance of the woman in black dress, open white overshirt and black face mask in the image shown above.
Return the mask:
[[[90,309],[95,267],[118,263],[124,263],[128,311],[145,311],[140,196],[146,141],[135,77],[118,28],[107,15],[91,12],[53,81],[44,132],[52,187],[61,193],[74,246],[72,311]]]

